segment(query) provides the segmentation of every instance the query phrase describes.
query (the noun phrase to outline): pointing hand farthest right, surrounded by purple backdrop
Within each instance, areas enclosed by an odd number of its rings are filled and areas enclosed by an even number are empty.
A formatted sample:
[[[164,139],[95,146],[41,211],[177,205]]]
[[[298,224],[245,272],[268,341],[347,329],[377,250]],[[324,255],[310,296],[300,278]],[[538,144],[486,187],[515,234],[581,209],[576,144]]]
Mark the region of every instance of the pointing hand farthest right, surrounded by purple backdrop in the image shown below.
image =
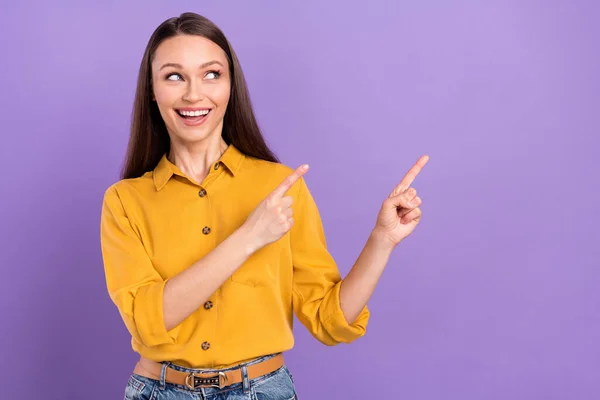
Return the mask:
[[[427,161],[429,156],[422,156],[381,206],[373,234],[389,241],[392,246],[396,246],[410,235],[421,221],[419,207],[422,201],[417,196],[417,191],[410,185]]]

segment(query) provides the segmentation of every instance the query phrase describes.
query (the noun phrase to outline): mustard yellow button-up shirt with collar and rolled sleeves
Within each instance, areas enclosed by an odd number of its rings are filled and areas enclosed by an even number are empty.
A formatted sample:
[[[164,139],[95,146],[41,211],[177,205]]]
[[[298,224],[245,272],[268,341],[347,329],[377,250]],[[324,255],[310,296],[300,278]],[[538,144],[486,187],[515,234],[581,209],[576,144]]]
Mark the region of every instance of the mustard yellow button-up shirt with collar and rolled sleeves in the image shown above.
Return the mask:
[[[159,362],[226,367],[291,349],[293,312],[326,345],[365,334],[368,308],[352,324],[340,308],[340,273],[304,179],[286,194],[294,199],[292,229],[248,258],[204,307],[165,328],[165,283],[239,228],[292,172],[229,145],[201,184],[163,156],[154,171],[108,188],[101,218],[106,282],[134,351]]]

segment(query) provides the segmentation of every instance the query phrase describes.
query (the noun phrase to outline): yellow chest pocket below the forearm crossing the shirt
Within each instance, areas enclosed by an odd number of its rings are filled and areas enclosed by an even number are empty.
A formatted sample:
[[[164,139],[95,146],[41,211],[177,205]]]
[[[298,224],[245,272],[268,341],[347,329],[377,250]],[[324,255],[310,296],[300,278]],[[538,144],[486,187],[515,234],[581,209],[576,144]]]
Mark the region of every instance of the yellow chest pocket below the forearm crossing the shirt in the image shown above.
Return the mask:
[[[231,281],[247,286],[272,286],[280,277],[283,246],[281,240],[252,254],[230,277]]]

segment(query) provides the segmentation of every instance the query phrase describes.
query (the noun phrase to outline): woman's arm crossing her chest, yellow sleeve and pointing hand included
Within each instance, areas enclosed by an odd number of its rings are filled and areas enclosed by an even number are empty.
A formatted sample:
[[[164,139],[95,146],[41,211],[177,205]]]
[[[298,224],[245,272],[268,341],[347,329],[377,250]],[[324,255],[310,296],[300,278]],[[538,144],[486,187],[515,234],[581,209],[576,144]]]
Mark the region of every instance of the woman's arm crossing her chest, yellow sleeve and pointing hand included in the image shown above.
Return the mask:
[[[132,336],[146,346],[174,343],[174,328],[201,307],[254,252],[291,229],[292,199],[284,194],[306,171],[298,168],[259,203],[238,230],[167,280],[154,269],[116,189],[108,190],[101,220],[107,286]]]

